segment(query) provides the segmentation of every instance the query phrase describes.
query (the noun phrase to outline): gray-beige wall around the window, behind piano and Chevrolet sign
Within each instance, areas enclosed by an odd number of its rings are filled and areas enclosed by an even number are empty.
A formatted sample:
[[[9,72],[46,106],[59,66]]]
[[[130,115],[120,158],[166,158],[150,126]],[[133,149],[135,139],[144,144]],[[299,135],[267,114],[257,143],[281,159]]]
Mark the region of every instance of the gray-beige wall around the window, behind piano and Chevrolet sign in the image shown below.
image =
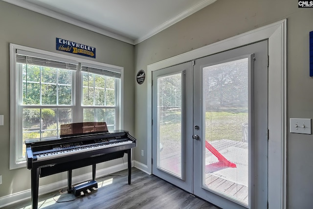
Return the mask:
[[[44,15],[0,1],[0,115],[4,125],[0,126],[0,198],[30,189],[30,170],[9,170],[10,139],[10,71],[9,43],[47,51],[56,51],[56,37],[96,47],[96,59],[78,56],[97,62],[124,67],[124,129],[134,133],[134,46],[91,32],[80,27],[46,17]],[[71,55],[65,53],[66,55]],[[75,56],[75,55],[72,55]],[[134,78],[134,79],[131,79]],[[124,162],[127,161],[127,158]],[[121,159],[100,163],[97,169],[123,163]],[[76,169],[73,176],[91,172],[91,167]],[[91,177],[90,177],[91,178]],[[40,186],[67,179],[67,173],[40,179]]]

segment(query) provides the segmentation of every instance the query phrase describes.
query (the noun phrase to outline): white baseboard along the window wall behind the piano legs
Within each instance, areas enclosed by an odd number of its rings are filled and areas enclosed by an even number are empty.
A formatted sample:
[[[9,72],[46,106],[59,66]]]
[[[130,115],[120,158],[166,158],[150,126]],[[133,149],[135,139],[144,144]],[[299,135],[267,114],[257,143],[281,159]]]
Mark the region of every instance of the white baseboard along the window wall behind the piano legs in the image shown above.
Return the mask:
[[[134,161],[132,161],[132,167],[134,167]],[[103,176],[107,176],[109,174],[121,171],[121,170],[125,170],[127,169],[127,163],[121,163],[118,165],[114,165],[108,168],[104,168],[104,169],[100,169],[96,171],[96,177],[100,178]],[[138,168],[140,169],[140,168]],[[141,170],[141,169],[140,169]],[[90,180],[90,176],[91,176],[91,172],[87,173],[87,174],[83,174],[80,176],[76,176],[72,178],[72,184],[79,184],[81,182],[85,182]],[[49,184],[49,185],[44,185],[44,186],[40,186],[39,187],[39,196],[49,193],[51,191],[55,191],[55,190],[59,190],[62,188],[66,188],[67,187],[67,180],[62,180],[59,182],[55,182],[53,184]],[[18,203],[18,202],[22,202],[24,200],[30,199],[31,198],[31,189],[27,189],[25,191],[21,191],[21,192],[17,192],[14,194],[10,194],[7,196],[3,196],[0,198],[0,208],[4,207],[4,206],[9,206],[12,205],[14,203]]]

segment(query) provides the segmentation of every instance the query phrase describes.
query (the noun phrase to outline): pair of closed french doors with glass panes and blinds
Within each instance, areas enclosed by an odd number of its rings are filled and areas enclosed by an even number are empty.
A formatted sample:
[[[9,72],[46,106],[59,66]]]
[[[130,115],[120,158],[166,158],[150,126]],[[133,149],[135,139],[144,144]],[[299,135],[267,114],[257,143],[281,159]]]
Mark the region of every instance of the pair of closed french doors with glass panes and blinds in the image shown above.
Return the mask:
[[[267,58],[262,41],[153,72],[154,175],[224,209],[267,208]]]

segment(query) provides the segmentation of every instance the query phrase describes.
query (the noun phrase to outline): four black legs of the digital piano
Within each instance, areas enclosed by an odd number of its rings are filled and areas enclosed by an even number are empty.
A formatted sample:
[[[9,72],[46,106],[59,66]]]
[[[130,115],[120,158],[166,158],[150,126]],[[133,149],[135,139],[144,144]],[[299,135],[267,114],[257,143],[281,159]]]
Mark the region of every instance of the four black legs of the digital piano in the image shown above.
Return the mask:
[[[132,178],[132,149],[125,150],[128,160],[128,184],[131,184]],[[31,169],[31,202],[32,209],[38,209],[38,192],[39,192],[39,167]],[[92,164],[92,181],[96,177],[96,164]],[[67,187],[68,192],[72,191],[72,170],[67,170]]]

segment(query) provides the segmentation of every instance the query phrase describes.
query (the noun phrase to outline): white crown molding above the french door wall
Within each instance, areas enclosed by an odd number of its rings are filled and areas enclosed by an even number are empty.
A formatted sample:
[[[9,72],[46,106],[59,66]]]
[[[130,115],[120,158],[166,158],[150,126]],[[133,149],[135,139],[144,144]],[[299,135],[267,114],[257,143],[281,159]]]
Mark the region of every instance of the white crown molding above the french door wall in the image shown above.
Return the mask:
[[[140,42],[143,42],[144,40],[156,35],[157,33],[161,32],[162,30],[172,26],[175,23],[178,23],[179,21],[185,19],[186,17],[198,12],[199,10],[203,9],[204,7],[214,3],[217,0],[203,0],[201,3],[189,8],[188,10],[180,13],[178,16],[174,17],[173,19],[159,25],[152,31],[150,31],[148,34],[136,39],[134,41],[134,45],[139,44]]]

